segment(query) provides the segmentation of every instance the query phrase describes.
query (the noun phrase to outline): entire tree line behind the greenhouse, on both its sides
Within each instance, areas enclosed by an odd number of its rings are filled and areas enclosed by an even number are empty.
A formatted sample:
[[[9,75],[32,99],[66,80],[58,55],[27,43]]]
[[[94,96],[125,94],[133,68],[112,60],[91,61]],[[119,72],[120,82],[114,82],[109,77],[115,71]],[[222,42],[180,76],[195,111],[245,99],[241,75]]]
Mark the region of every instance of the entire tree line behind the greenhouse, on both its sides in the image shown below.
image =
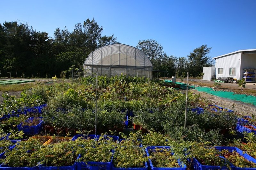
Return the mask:
[[[83,68],[86,57],[96,48],[115,44],[114,34],[102,35],[103,27],[94,20],[77,23],[69,32],[56,28],[53,38],[36,31],[28,23],[4,22],[0,24],[0,77],[43,77],[70,68]],[[167,56],[162,45],[155,40],[139,41],[136,46],[153,64],[153,70],[169,71],[169,76],[190,71],[197,76],[203,67],[210,66],[210,49],[202,45],[186,57]],[[163,76],[163,73],[161,73]]]

